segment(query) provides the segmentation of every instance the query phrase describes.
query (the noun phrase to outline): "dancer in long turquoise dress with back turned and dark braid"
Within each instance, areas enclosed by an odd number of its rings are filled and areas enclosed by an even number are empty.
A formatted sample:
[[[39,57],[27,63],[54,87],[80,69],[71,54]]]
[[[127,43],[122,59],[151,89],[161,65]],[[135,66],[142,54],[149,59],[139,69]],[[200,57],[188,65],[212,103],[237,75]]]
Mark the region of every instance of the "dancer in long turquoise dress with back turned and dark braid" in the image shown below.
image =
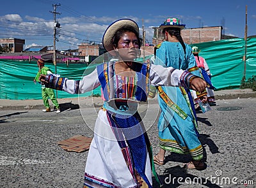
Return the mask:
[[[170,17],[159,27],[163,32],[164,41],[156,49],[154,64],[188,70],[200,76],[191,47],[184,43],[180,35],[185,25],[180,24],[179,18]],[[158,120],[160,148],[154,155],[154,162],[163,165],[166,162],[166,150],[169,150],[191,155],[192,160],[186,164],[186,168],[204,169],[203,147],[198,139],[195,106],[190,90],[184,87],[159,86],[157,91],[161,108]]]

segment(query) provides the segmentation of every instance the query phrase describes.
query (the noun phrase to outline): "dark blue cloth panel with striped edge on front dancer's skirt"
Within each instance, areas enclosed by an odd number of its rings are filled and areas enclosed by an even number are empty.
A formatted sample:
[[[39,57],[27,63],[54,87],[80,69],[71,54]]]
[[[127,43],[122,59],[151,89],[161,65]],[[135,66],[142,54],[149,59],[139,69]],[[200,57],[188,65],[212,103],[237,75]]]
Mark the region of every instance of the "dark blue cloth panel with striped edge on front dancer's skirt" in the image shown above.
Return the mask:
[[[145,127],[141,122],[139,113],[136,112],[131,117],[114,114],[112,112],[107,112],[107,114],[109,124],[122,149],[122,154],[134,181],[137,182],[138,185],[142,183],[147,185],[147,187],[152,187],[145,175],[147,145],[150,145],[150,143],[146,139],[147,134],[144,133]],[[132,127],[132,131],[127,129],[130,127]],[[134,133],[138,135],[132,138],[131,136],[134,136]],[[127,146],[124,145],[124,143],[127,143]]]

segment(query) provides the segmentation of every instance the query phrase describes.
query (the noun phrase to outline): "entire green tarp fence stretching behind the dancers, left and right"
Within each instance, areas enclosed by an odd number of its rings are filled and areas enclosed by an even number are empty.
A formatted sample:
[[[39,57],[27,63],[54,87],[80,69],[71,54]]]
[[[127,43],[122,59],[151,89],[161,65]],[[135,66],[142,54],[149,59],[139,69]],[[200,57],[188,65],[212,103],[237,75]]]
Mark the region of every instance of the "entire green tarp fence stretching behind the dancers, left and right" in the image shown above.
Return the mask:
[[[243,39],[212,41],[194,44],[200,48],[212,74],[212,83],[218,89],[238,89],[244,75]],[[193,45],[191,45],[193,46]],[[256,75],[256,38],[247,40],[246,79]],[[97,64],[57,64],[57,73],[62,77],[80,80],[95,69]],[[55,67],[46,63],[52,72]],[[86,71],[85,71],[86,70]],[[38,67],[35,61],[10,61],[0,59],[0,99],[42,99],[41,85],[33,83]],[[85,72],[84,72],[85,71]],[[58,98],[76,98],[77,94],[58,91]],[[79,97],[100,95],[100,87],[79,94]]]

